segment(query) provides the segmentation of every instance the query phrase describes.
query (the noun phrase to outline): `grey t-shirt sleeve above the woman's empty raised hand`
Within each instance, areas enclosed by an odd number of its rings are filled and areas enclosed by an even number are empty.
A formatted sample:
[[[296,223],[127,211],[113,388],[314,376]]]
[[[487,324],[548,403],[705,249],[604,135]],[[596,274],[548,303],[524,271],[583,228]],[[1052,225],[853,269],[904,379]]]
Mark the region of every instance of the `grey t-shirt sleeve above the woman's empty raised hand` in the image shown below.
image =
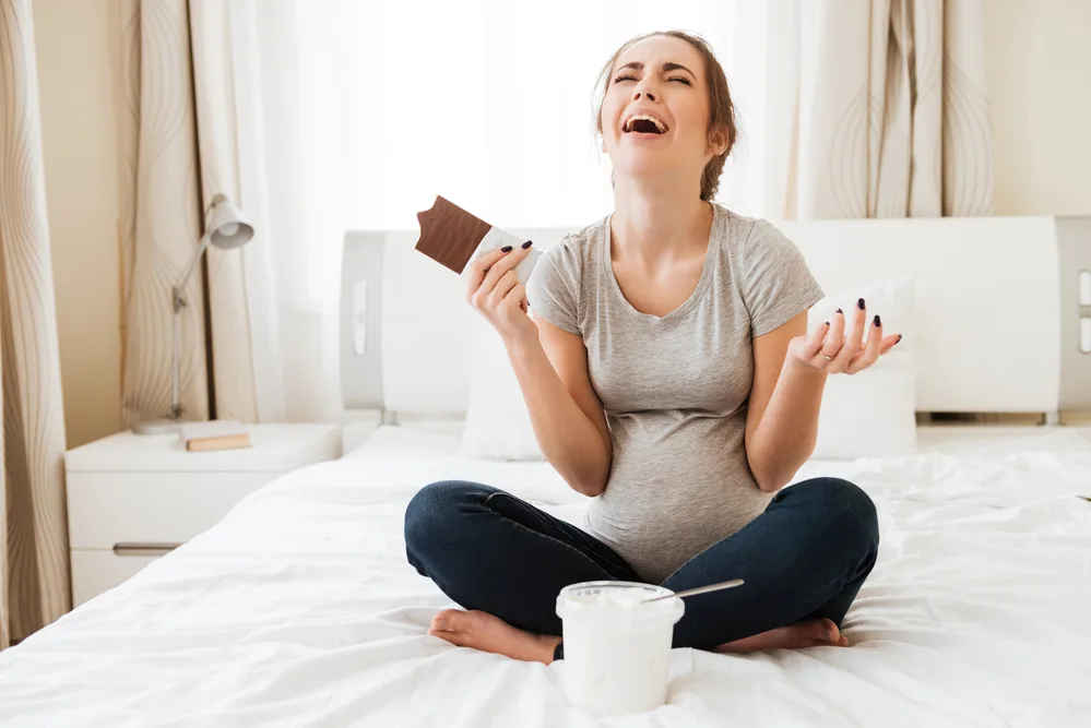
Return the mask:
[[[743,301],[752,336],[779,329],[822,299],[803,253],[783,232],[757,220],[743,246]]]

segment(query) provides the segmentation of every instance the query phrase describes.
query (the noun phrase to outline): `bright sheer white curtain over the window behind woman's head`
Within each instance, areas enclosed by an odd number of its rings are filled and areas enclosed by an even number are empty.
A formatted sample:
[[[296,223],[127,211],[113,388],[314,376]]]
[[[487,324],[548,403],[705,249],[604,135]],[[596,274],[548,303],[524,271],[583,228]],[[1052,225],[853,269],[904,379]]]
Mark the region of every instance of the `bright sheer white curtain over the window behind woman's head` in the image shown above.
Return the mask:
[[[239,100],[253,151],[249,160],[241,153],[240,177],[247,208],[268,231],[260,250],[246,251],[248,281],[264,275],[268,283],[248,289],[256,369],[266,361],[256,371],[260,419],[340,415],[335,332],[346,229],[415,229],[416,212],[437,194],[512,227],[577,228],[610,210],[609,168],[592,136],[592,88],[633,35],[677,28],[712,44],[742,126],[720,200],[761,212],[763,182],[752,162],[762,155],[763,3],[236,7],[237,59],[249,59],[241,72],[254,82]]]

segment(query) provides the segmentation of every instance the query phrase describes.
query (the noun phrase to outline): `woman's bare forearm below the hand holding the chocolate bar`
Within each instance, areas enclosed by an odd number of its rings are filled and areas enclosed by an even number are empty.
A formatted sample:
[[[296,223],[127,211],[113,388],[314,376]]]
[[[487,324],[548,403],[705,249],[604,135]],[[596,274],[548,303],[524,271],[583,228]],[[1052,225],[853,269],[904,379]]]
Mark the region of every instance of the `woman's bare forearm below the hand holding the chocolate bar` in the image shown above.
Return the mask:
[[[609,475],[610,447],[557,375],[537,339],[508,344],[542,454],[565,481],[584,496],[597,496]]]

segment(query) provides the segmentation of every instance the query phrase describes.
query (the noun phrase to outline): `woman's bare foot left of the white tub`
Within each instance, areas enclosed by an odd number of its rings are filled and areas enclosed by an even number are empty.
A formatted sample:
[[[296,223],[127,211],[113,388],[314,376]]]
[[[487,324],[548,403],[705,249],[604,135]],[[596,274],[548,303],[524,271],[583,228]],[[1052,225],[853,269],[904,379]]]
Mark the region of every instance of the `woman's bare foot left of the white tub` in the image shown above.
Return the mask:
[[[544,665],[553,663],[553,651],[560,642],[560,637],[548,634],[523,632],[487,612],[461,609],[444,609],[436,614],[428,634],[459,647]]]

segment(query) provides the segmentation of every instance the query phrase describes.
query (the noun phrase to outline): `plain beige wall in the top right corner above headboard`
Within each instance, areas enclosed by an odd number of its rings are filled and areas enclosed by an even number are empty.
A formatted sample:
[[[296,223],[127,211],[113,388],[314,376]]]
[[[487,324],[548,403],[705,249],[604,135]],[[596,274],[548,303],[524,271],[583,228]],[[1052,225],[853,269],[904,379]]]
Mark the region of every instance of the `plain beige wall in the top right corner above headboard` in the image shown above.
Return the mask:
[[[985,0],[996,211],[1091,214],[1091,2]]]

